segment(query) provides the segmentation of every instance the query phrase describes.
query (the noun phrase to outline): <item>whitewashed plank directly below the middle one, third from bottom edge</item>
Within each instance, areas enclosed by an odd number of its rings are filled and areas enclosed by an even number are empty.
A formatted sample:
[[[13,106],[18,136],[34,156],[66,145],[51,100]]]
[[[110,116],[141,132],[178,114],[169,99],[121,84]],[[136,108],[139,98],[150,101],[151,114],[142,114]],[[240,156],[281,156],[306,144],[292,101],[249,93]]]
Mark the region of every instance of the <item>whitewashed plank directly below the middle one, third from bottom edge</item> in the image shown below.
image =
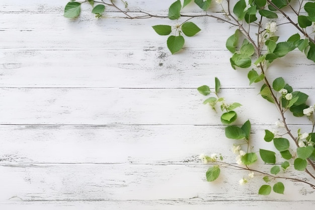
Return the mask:
[[[298,128],[310,131],[310,126],[290,126],[293,134]],[[265,129],[276,126],[252,126],[253,152],[276,151],[264,141]],[[223,126],[193,125],[2,125],[0,136],[1,163],[200,164],[201,153],[222,154],[225,162],[235,163],[232,145],[243,143],[226,138]]]

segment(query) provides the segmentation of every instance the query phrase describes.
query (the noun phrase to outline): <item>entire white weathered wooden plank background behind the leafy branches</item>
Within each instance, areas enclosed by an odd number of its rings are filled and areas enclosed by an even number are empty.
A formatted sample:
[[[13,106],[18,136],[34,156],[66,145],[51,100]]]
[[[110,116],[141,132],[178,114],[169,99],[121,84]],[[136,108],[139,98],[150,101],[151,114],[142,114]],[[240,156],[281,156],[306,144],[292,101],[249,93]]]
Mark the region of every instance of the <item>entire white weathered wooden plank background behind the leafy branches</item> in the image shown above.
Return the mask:
[[[130,0],[130,11],[166,15],[173,1]],[[67,1],[2,0],[0,8],[1,209],[310,209],[314,189],[283,180],[285,194],[257,195],[262,177],[240,186],[247,171],[222,169],[213,183],[200,153],[234,163],[234,143],[196,88],[222,84],[250,119],[254,150],[279,115],[234,71],[225,40],[234,28],[196,18],[202,31],[171,55],[151,26],[168,19],[63,17]],[[196,7],[190,12],[200,11]],[[110,10],[110,9],[109,9]],[[213,9],[219,11],[219,8]],[[219,15],[219,14],[218,14]],[[285,26],[278,33],[294,30]],[[314,63],[291,52],[270,69],[313,98]],[[309,100],[314,103],[314,99]],[[270,111],[272,110],[272,111]],[[307,120],[287,116],[292,130]],[[260,162],[260,170],[269,170]],[[293,171],[293,170],[292,170]],[[289,172],[311,181],[304,173]]]

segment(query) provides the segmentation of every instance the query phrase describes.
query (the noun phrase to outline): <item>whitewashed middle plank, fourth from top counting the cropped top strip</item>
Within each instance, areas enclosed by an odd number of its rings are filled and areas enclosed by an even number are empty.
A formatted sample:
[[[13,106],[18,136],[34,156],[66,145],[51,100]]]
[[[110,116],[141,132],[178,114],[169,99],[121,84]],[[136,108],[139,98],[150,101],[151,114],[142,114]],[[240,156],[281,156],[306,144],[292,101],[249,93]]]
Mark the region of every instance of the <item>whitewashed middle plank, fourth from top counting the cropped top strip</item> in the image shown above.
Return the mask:
[[[314,89],[303,91],[312,95]],[[279,118],[256,89],[223,89],[221,96],[243,104],[236,123],[250,118],[252,124],[274,124]],[[1,89],[0,124],[221,124],[202,103],[206,98],[196,89]],[[289,123],[309,124],[286,114]]]

